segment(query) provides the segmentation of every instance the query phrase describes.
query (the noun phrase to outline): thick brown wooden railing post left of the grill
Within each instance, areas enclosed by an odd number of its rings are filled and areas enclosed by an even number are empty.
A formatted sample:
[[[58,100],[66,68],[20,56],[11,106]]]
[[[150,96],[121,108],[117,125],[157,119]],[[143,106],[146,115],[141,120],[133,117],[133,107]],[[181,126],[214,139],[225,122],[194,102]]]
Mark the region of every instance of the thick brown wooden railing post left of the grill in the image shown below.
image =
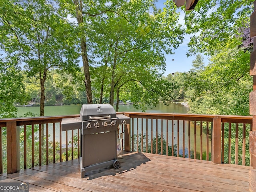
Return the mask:
[[[20,170],[20,127],[17,122],[6,122],[7,130],[7,174]]]

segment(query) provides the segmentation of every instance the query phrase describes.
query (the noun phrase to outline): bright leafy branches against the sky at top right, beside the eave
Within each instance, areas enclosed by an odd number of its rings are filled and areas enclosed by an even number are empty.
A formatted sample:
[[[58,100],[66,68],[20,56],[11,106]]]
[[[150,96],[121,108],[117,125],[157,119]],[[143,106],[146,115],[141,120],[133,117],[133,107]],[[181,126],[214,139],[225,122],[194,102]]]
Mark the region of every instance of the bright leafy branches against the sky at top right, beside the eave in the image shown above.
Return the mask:
[[[204,0],[198,1],[191,12],[186,12],[186,32],[193,34],[188,55],[198,52],[214,55],[227,42],[241,43],[236,39],[242,28],[248,28],[253,0]],[[199,35],[197,35],[199,34]],[[237,45],[239,45],[237,44]]]

